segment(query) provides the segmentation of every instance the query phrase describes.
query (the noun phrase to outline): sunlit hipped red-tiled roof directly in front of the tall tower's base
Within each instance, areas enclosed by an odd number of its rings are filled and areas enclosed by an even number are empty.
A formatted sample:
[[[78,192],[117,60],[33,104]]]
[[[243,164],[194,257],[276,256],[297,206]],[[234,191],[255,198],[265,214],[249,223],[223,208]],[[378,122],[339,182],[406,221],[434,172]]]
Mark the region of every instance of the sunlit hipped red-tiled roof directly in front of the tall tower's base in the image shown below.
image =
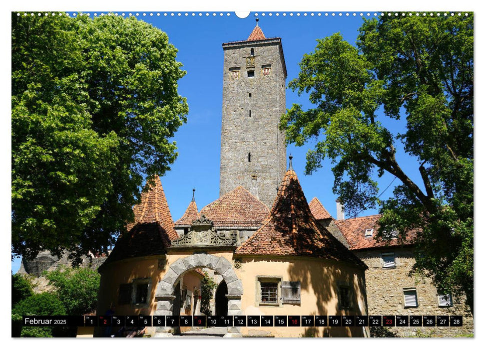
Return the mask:
[[[242,186],[222,195],[200,210],[217,226],[260,226],[269,209]]]

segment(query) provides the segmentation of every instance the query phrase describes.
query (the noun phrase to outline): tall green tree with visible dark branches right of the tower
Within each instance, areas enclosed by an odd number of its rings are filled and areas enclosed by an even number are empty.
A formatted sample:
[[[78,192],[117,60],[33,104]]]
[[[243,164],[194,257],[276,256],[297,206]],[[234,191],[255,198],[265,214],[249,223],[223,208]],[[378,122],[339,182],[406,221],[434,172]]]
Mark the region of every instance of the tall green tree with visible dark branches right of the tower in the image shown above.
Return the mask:
[[[364,20],[356,46],[334,34],[304,55],[289,87],[314,106],[294,104],[281,120],[288,142],[316,140],[306,173],[330,159],[351,215],[380,207],[379,239],[417,229],[414,270],[465,293],[472,312],[473,47],[473,14]],[[400,147],[419,180],[403,170]],[[385,172],[400,183],[381,201],[376,174]]]

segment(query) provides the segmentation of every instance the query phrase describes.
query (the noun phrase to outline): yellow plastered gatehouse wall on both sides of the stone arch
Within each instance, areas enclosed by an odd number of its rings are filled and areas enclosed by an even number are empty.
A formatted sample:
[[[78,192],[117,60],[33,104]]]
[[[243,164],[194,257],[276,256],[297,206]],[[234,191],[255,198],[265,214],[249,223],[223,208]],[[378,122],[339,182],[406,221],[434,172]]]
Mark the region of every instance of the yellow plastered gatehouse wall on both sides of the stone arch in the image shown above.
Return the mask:
[[[159,259],[164,256],[131,258],[106,265],[101,272],[98,296],[98,314],[104,314],[111,303],[116,305],[118,315],[153,315],[156,310],[155,290],[171,263],[191,255],[191,252],[168,254],[166,265],[159,266]],[[233,265],[236,276],[243,285],[241,309],[243,315],[367,315],[364,270],[345,263],[338,263],[308,257],[259,257],[234,256],[241,260],[241,267],[234,268],[232,252],[211,253],[226,258]],[[190,273],[192,274],[192,273]],[[188,275],[188,274],[185,274]],[[282,281],[301,282],[301,304],[260,305],[257,279],[261,276],[279,277]],[[133,305],[117,305],[120,284],[130,283],[134,279],[151,278],[150,300],[145,308]],[[193,280],[196,282],[195,280]],[[185,283],[184,276],[184,283]],[[187,281],[189,282],[189,281]],[[190,281],[192,284],[192,282]],[[338,305],[338,285],[351,286],[353,307],[340,310]],[[148,333],[154,331],[151,328]],[[243,335],[253,335],[255,331],[264,331],[275,337],[364,337],[368,329],[361,327],[242,327]]]

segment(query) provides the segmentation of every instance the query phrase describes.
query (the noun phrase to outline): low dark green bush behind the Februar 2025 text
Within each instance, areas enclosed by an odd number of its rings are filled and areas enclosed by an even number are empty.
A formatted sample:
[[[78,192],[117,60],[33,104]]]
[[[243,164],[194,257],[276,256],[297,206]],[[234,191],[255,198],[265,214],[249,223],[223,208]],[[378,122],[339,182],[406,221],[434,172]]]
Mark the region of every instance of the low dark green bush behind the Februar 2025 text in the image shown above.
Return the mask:
[[[66,315],[57,295],[50,292],[35,293],[12,307],[12,319],[16,315]],[[23,327],[21,337],[53,337],[53,327]]]

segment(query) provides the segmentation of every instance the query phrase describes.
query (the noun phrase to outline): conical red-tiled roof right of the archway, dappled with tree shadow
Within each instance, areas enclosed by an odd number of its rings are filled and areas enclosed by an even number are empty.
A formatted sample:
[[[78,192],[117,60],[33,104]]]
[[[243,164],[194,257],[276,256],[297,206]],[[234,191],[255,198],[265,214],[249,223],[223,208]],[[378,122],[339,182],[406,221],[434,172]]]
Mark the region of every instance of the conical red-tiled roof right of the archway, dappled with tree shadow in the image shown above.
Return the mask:
[[[292,169],[283,178],[269,217],[235,253],[311,256],[346,261],[366,268],[330,232],[317,225]]]

